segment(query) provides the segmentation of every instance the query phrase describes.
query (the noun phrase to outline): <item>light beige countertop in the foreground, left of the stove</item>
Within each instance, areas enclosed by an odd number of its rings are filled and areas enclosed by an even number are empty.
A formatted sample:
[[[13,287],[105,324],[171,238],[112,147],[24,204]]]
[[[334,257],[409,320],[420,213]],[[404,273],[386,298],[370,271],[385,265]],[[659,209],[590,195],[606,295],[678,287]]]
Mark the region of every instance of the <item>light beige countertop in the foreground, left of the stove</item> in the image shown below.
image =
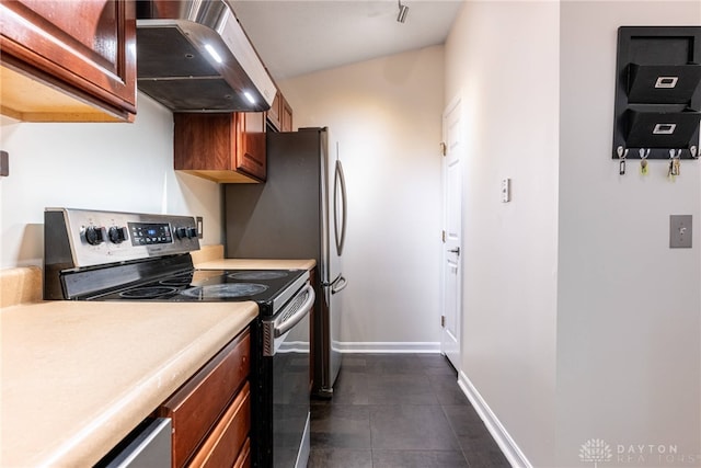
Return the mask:
[[[257,316],[254,303],[0,310],[0,466],[91,466]]]

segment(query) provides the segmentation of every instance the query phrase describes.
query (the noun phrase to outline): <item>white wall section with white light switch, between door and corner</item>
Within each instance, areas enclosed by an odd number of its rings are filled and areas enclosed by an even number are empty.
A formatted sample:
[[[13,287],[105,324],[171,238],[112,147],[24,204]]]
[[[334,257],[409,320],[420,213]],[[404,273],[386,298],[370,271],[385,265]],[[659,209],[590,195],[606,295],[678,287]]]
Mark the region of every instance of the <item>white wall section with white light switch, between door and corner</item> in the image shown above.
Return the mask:
[[[444,102],[461,94],[466,110],[460,378],[533,466],[554,443],[558,15],[558,2],[470,1],[446,44]]]

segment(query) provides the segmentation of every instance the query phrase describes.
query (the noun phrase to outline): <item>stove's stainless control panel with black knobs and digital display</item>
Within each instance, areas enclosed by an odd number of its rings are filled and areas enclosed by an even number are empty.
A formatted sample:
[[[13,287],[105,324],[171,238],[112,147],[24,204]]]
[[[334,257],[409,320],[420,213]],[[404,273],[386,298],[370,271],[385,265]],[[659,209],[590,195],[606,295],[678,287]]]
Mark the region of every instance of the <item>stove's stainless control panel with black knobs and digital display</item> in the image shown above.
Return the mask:
[[[199,250],[192,216],[46,208],[44,222],[45,242],[69,247],[73,267]]]

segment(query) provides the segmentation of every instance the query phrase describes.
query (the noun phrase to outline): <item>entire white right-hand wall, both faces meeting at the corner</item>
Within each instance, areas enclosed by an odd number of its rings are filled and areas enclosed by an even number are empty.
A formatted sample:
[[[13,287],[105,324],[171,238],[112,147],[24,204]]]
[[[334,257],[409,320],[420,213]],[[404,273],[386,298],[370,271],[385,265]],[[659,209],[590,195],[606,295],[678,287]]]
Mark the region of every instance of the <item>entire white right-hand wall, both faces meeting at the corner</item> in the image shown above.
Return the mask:
[[[699,230],[668,248],[670,214],[700,219],[701,167],[610,157],[617,30],[675,24],[701,2],[469,1],[446,45],[470,135],[460,375],[516,461],[584,466],[598,438],[607,466],[701,464]]]

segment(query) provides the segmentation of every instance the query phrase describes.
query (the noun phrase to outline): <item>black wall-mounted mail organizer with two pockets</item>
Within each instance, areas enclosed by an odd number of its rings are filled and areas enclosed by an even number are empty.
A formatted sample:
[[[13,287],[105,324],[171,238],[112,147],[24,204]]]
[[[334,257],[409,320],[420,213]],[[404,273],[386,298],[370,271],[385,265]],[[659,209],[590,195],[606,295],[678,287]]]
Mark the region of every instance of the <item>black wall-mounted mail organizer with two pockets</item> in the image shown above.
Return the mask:
[[[701,26],[618,30],[613,159],[699,158]]]

